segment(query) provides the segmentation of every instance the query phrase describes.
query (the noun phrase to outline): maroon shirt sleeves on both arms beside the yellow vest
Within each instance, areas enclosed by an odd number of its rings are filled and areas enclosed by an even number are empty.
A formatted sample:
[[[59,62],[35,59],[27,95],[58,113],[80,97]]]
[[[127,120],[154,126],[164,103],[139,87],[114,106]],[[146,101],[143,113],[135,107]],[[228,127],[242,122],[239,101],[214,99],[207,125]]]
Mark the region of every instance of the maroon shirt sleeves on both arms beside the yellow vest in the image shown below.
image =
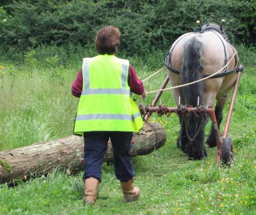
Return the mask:
[[[71,92],[75,97],[80,98],[82,93],[82,69],[79,69],[77,74],[77,78],[72,84]],[[137,73],[132,65],[129,66],[129,76],[128,76],[128,85],[130,86],[130,90],[137,94],[142,95],[144,92],[144,86],[141,80],[137,77]]]

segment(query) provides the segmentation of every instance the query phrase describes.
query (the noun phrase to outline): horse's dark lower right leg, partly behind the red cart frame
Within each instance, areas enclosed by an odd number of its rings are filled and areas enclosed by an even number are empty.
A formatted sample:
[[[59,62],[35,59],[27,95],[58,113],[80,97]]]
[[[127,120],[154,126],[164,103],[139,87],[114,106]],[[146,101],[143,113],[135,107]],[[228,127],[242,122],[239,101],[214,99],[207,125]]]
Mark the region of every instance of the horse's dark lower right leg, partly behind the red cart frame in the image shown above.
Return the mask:
[[[226,96],[223,96],[221,99],[217,100],[217,103],[215,106],[214,112],[215,112],[215,116],[216,116],[216,120],[217,120],[219,129],[220,129],[220,125],[221,125],[221,121],[222,121],[222,117],[223,117],[222,111],[223,111],[223,108],[224,108],[228,98],[229,98],[229,94],[227,94]],[[212,125],[212,129],[211,129],[210,135],[207,138],[206,143],[211,148],[214,146],[217,146],[216,136],[215,136],[213,125]]]

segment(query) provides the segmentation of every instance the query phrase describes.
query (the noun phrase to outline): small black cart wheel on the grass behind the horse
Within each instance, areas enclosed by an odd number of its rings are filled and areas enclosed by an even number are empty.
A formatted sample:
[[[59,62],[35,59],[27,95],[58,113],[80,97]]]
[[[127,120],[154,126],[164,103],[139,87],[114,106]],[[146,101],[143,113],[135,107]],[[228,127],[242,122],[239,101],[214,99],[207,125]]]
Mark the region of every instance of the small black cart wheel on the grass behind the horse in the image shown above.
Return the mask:
[[[230,166],[234,161],[233,145],[230,137],[222,139],[221,145],[221,164]]]

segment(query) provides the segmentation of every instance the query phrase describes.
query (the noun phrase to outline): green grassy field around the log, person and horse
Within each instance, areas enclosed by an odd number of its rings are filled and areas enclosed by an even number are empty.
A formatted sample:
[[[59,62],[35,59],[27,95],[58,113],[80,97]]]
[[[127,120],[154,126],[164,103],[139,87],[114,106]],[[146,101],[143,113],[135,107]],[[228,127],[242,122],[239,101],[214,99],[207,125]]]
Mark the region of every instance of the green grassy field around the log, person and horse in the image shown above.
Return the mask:
[[[144,79],[163,66],[165,54],[130,61]],[[79,62],[49,67],[33,57],[26,59],[26,64],[0,64],[0,150],[61,138],[73,131],[78,99],[70,87]],[[123,201],[114,168],[104,163],[95,206],[82,204],[82,172],[70,176],[56,169],[13,188],[0,185],[0,215],[255,215],[256,67],[249,61],[245,66],[229,131],[234,143],[232,167],[215,165],[216,148],[207,147],[208,158],[203,161],[187,161],[176,147],[178,117],[153,115],[151,121],[165,127],[167,141],[150,155],[133,158],[135,185],[141,189],[138,201]],[[146,88],[158,89],[165,75],[153,77]],[[153,97],[149,95],[145,103]],[[163,94],[162,103],[176,106],[170,91]],[[227,110],[228,105],[224,119]],[[206,134],[209,128],[210,123]]]

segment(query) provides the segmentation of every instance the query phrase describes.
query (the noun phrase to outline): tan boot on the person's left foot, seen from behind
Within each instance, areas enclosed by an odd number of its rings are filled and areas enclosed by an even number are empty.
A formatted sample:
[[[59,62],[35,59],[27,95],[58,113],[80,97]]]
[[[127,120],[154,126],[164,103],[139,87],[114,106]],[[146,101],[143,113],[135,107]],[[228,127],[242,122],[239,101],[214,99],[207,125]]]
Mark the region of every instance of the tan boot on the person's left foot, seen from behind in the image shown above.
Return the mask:
[[[98,193],[98,186],[99,186],[99,180],[90,177],[87,178],[84,181],[84,196],[83,196],[83,203],[94,205],[96,199],[97,199],[97,193]]]

